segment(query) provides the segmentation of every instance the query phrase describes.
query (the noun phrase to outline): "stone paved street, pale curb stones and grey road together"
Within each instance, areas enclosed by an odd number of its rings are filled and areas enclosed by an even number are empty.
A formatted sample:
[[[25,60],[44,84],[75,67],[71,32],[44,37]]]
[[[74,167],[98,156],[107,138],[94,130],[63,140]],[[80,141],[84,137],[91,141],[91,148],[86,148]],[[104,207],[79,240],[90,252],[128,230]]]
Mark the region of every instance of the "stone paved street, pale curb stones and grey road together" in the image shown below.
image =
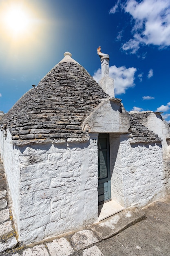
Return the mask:
[[[123,227],[125,215],[115,215],[100,225],[38,245],[15,248],[3,256],[169,256],[170,255],[170,195],[144,209],[146,218]],[[128,213],[130,214],[130,213]],[[127,215],[127,212],[126,212]],[[117,219],[121,217],[121,222]],[[108,228],[108,223],[111,223]],[[118,225],[117,225],[118,224]],[[117,227],[121,224],[120,233]],[[130,222],[129,222],[130,224]],[[113,227],[115,226],[115,227]],[[96,229],[96,231],[95,231]],[[103,239],[97,232],[101,230]],[[109,229],[115,233],[109,234]],[[93,230],[93,232],[92,232]],[[100,234],[100,236],[102,236]],[[115,234],[115,235],[114,235]]]

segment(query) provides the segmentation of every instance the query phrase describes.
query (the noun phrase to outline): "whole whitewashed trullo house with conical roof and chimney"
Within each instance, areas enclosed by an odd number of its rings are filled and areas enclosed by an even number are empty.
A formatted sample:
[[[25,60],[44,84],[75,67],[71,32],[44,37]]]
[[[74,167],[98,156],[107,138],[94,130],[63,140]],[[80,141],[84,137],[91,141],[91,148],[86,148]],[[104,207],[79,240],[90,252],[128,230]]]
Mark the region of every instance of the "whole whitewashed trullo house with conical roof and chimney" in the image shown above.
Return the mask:
[[[126,112],[109,56],[98,54],[99,84],[66,52],[2,117],[0,152],[23,243],[170,193],[170,127],[160,113]]]

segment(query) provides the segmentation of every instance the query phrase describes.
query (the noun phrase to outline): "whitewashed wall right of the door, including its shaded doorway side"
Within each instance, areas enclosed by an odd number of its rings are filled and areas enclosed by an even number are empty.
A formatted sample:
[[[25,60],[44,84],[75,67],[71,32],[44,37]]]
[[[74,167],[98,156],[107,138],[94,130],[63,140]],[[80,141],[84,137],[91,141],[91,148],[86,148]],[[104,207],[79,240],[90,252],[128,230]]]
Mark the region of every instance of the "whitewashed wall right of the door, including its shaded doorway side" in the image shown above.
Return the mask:
[[[115,157],[111,159],[114,200],[124,207],[143,207],[166,195],[161,143],[130,144],[128,135],[112,135],[110,152],[114,150]]]

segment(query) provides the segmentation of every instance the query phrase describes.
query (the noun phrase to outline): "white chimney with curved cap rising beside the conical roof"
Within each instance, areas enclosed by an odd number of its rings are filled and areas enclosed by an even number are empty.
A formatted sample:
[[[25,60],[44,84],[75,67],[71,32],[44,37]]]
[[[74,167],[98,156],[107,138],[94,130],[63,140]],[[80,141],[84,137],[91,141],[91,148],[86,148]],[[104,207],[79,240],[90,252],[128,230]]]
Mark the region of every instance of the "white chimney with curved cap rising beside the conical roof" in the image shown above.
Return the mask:
[[[97,48],[97,54],[101,61],[102,79],[98,84],[110,97],[115,98],[114,79],[109,76],[109,55],[102,53],[100,50],[101,47],[99,46],[99,48]]]

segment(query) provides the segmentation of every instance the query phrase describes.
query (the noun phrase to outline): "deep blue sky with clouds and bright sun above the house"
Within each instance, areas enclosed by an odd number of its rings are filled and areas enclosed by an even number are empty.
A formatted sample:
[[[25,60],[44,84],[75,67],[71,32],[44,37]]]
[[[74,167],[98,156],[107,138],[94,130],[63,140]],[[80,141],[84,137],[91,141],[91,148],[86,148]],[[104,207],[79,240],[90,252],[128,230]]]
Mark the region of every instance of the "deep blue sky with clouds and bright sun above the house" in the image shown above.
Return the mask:
[[[170,122],[169,0],[0,0],[0,110],[66,51],[98,81],[99,46],[126,110],[160,111]]]

